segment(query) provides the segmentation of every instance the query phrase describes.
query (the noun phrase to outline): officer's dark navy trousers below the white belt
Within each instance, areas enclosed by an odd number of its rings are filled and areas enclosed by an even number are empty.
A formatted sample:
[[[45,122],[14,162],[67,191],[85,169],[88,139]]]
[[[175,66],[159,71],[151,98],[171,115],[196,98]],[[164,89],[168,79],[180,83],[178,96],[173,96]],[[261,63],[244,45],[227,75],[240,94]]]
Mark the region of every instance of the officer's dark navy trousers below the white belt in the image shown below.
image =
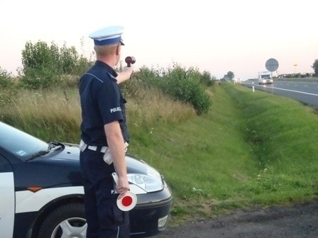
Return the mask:
[[[128,238],[128,212],[116,205],[111,173],[114,166],[103,160],[101,152],[86,149],[80,154],[84,182],[84,207],[87,219],[87,238]]]

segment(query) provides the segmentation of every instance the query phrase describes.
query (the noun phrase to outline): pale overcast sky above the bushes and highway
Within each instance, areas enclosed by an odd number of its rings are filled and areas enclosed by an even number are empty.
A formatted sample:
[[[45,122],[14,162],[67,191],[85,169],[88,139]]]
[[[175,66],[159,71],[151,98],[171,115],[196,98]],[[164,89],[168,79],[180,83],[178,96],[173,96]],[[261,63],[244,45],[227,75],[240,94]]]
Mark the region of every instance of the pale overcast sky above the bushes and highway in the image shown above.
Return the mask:
[[[135,67],[197,67],[249,79],[275,58],[278,74],[313,72],[318,59],[312,0],[0,0],[0,67],[16,74],[26,42],[75,46],[89,57],[99,28],[124,26],[122,60]],[[84,47],[81,47],[81,39]]]

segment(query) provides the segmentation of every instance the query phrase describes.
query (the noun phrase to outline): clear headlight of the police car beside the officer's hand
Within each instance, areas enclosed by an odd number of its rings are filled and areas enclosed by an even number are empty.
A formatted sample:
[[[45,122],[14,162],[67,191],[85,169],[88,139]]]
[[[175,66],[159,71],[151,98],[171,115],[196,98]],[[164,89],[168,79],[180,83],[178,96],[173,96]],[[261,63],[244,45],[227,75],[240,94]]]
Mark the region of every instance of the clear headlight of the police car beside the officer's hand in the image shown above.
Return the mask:
[[[160,191],[164,184],[158,171],[147,169],[147,174],[128,174],[128,181],[147,193]]]

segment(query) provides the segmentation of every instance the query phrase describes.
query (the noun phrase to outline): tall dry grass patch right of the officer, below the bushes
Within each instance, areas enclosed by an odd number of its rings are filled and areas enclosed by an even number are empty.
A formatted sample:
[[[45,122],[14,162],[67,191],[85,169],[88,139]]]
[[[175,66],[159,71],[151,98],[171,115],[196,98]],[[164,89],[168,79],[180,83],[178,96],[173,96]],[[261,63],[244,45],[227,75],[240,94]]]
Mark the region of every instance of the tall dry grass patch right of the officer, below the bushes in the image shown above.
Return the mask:
[[[141,88],[128,98],[127,121],[131,145],[157,145],[153,132],[196,117],[190,103],[172,101],[158,89]]]

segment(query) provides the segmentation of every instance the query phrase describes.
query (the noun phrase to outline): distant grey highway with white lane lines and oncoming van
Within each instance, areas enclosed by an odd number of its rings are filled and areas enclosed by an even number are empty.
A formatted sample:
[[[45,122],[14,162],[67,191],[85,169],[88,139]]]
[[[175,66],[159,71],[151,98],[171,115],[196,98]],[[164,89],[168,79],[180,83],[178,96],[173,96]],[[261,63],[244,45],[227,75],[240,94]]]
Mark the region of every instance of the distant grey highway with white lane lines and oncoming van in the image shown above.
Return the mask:
[[[243,81],[241,84],[249,88],[254,86],[255,90],[287,96],[302,103],[318,106],[318,83],[274,81],[274,84],[259,85],[256,80]]]

